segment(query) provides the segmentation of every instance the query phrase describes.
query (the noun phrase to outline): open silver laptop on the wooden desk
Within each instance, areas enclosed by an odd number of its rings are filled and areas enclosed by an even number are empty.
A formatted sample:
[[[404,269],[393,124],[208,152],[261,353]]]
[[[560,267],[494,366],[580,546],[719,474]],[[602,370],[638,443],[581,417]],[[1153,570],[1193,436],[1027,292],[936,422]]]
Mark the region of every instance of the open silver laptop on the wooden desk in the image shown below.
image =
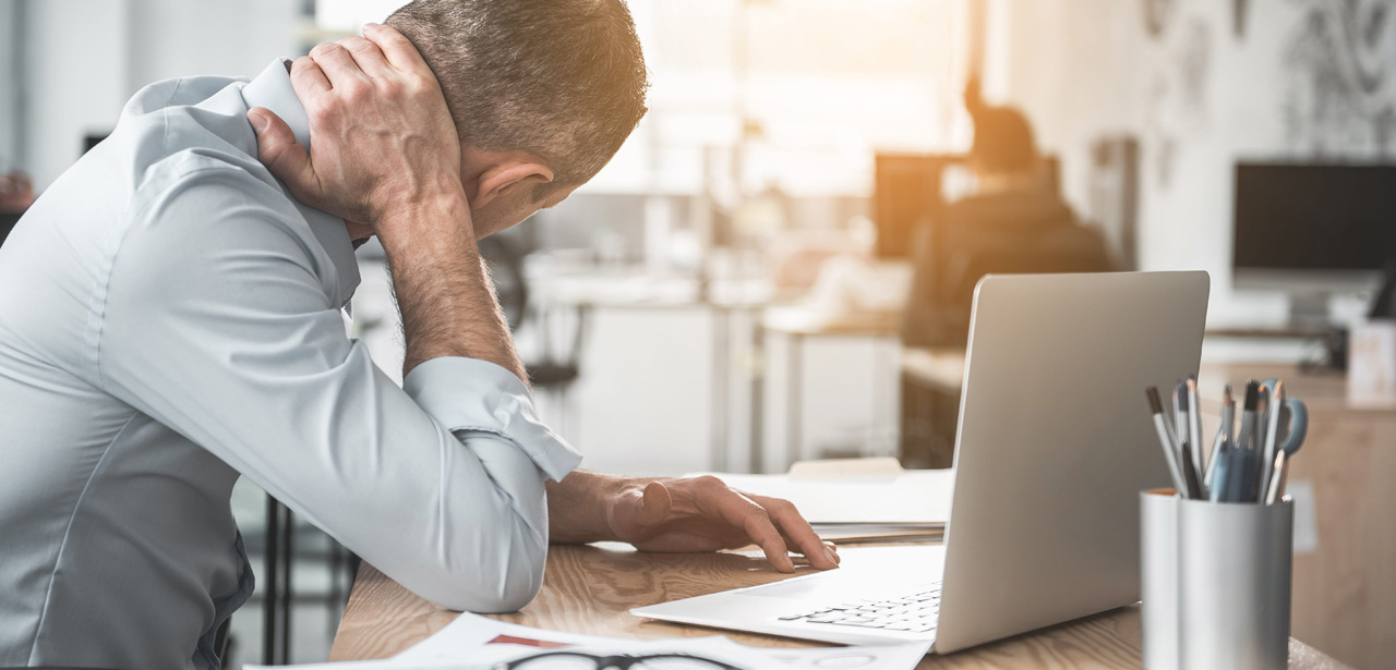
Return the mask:
[[[1198,371],[1208,290],[1206,272],[986,276],[944,546],[631,611],[945,653],[1138,602],[1138,494],[1168,486],[1143,389]]]

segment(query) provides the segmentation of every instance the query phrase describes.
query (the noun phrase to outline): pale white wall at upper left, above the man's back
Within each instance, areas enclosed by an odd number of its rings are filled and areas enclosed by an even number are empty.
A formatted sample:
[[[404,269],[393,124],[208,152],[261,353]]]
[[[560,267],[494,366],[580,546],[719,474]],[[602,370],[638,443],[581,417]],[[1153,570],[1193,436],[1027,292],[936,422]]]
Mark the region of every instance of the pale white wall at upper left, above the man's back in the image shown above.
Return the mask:
[[[77,161],[85,134],[110,131],[141,87],[194,74],[251,77],[299,49],[299,3],[288,0],[0,0],[8,13],[21,1],[22,168],[38,190]]]

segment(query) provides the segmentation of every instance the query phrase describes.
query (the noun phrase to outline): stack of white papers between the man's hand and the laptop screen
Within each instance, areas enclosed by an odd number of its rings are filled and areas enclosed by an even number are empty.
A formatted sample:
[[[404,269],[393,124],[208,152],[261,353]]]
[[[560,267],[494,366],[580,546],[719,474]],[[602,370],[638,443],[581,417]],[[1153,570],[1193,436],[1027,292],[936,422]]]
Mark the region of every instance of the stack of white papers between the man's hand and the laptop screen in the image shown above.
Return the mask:
[[[955,470],[803,477],[716,473],[727,486],[794,502],[810,523],[945,523]]]

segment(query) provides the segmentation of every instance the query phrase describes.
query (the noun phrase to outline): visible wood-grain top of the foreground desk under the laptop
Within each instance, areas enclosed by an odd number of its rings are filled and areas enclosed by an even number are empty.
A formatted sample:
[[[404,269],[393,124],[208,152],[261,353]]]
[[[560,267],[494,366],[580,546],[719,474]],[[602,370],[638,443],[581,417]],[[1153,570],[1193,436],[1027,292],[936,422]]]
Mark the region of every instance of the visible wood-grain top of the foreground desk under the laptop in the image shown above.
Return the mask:
[[[712,630],[646,621],[631,607],[782,579],[764,560],[743,554],[645,554],[623,546],[553,547],[543,592],[524,611],[497,616],[539,628],[614,638],[711,635]],[[860,547],[845,547],[846,556]],[[359,571],[331,660],[381,659],[441,630],[454,611],[413,596],[371,565]],[[732,634],[748,645],[801,646],[764,635]],[[805,645],[808,646],[808,645]],[[1139,611],[1097,617],[1019,635],[949,656],[927,656],[919,669],[1120,669],[1139,667]],[[1342,669],[1308,645],[1290,641],[1290,667]]]

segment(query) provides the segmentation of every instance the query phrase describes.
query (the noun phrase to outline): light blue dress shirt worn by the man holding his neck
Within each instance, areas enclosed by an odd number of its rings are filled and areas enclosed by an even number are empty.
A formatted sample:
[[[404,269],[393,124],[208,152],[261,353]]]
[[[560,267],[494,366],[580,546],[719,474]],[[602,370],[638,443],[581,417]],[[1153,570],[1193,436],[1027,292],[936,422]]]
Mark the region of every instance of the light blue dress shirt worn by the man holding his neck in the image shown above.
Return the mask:
[[[282,61],[141,89],[0,247],[0,666],[218,667],[240,475],[443,606],[542,583],[581,456],[507,370],[398,388],[345,335],[343,221],[257,162],[253,106],[309,142]]]

